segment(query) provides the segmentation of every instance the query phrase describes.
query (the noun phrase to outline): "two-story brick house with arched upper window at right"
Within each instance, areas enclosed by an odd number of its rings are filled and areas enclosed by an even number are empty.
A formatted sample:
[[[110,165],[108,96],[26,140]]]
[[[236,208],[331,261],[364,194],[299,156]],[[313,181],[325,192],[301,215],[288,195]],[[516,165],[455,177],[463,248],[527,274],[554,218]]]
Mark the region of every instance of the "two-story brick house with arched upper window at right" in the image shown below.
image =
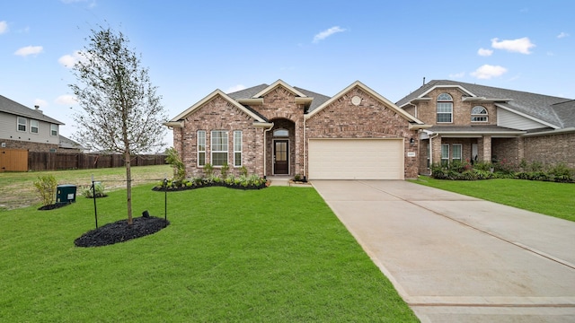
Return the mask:
[[[575,100],[436,80],[396,104],[432,125],[420,134],[420,173],[452,161],[575,168]]]

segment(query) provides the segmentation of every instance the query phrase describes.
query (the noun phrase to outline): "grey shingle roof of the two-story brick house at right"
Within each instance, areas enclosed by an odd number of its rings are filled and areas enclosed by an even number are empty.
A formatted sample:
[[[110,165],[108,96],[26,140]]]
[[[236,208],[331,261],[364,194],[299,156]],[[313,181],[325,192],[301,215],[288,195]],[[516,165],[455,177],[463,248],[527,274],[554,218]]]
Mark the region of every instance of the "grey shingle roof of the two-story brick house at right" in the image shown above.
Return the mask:
[[[397,101],[397,105],[403,108],[413,100],[430,99],[426,96],[429,92],[436,88],[446,87],[461,89],[464,95],[467,96],[467,100],[500,102],[498,105],[502,108],[509,109],[523,116],[529,116],[529,118],[549,127],[572,127],[573,120],[567,116],[570,110],[571,114],[574,112],[573,104],[568,103],[571,101],[570,99],[449,80],[430,81],[415,92],[405,96],[402,100]],[[562,105],[563,103],[565,105]],[[568,113],[565,113],[565,111]]]

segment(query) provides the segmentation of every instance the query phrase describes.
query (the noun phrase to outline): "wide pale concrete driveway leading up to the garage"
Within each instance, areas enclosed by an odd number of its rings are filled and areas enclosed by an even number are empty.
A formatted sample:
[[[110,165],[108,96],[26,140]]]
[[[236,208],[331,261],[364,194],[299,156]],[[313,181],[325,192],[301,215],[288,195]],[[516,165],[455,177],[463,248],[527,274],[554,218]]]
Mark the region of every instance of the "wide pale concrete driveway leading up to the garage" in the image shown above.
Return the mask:
[[[422,322],[575,322],[575,223],[401,180],[312,184]]]

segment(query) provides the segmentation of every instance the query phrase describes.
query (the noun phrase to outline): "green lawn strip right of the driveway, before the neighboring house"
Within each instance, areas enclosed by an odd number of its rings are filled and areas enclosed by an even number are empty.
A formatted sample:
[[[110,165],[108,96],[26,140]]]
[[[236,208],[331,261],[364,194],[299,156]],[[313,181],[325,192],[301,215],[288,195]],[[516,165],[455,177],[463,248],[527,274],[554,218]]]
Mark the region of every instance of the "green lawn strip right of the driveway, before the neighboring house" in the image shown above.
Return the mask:
[[[575,221],[575,184],[571,183],[524,179],[444,180],[429,177],[411,181]]]

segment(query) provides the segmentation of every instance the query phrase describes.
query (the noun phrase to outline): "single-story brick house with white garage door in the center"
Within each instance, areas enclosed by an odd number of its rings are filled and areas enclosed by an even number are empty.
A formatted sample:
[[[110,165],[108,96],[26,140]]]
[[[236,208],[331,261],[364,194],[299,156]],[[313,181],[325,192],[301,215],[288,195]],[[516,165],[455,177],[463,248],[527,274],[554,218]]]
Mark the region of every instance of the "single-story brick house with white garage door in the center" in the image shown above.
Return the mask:
[[[210,163],[307,179],[415,178],[426,127],[360,82],[330,98],[281,80],[216,90],[165,125],[190,177]]]

